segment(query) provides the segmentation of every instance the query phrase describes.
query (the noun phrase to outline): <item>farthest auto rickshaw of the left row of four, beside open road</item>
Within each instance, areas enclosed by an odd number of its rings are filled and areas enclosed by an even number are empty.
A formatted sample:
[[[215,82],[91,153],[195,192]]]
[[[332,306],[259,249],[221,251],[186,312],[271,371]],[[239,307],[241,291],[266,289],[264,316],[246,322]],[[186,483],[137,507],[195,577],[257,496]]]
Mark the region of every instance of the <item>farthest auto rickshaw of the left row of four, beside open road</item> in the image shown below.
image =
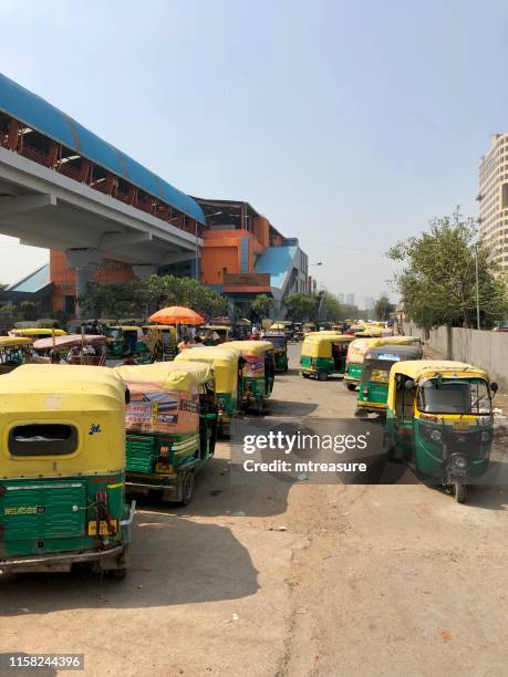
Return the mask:
[[[253,407],[261,415],[265,400],[273,389],[273,345],[269,341],[230,341],[230,346],[238,348],[245,361],[241,371],[241,405],[243,409]]]

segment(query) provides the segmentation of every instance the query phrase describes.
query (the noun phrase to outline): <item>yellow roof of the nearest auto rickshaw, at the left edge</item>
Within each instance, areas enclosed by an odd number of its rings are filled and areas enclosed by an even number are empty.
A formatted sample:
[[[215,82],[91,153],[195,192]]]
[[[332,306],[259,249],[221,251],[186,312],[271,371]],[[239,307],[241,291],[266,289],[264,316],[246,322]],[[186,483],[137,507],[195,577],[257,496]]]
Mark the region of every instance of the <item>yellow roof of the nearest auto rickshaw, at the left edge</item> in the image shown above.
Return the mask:
[[[33,394],[48,396],[45,402],[49,410],[62,408],[61,395],[73,396],[72,399],[87,397],[90,405],[86,406],[93,410],[94,400],[106,396],[117,398],[120,395],[123,406],[125,388],[113,369],[100,366],[23,364],[0,376],[0,397],[7,395],[6,402],[14,395]],[[82,408],[83,404],[76,406]]]

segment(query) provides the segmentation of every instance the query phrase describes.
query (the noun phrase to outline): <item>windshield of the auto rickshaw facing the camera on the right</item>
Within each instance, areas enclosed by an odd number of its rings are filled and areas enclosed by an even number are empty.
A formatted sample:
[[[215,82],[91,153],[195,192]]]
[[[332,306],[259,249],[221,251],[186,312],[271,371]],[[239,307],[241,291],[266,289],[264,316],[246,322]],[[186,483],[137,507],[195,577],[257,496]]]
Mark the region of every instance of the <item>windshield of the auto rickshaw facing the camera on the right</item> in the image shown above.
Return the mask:
[[[426,414],[490,415],[493,405],[484,378],[426,378],[418,387],[417,407]]]

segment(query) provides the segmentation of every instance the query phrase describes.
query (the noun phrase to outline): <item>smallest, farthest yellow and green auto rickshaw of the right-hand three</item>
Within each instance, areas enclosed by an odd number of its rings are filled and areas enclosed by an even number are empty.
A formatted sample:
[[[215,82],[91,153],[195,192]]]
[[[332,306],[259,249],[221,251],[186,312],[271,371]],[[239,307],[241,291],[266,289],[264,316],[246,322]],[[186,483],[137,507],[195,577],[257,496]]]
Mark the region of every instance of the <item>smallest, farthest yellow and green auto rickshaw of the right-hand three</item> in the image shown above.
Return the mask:
[[[303,378],[315,376],[319,381],[326,381],[329,376],[345,372],[345,356],[348,346],[354,336],[315,332],[308,334],[302,343],[300,356],[300,373]]]

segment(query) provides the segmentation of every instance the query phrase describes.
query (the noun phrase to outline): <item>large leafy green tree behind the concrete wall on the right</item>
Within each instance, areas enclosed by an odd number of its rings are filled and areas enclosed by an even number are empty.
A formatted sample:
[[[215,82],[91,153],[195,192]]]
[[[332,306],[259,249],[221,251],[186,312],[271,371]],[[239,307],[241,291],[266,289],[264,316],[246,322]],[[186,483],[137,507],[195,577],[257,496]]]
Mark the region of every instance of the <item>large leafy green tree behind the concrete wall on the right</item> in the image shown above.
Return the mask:
[[[392,260],[403,264],[393,285],[421,327],[476,326],[476,257],[481,326],[493,326],[505,317],[505,280],[476,238],[474,219],[464,218],[457,209],[450,217],[433,219],[428,232],[388,251]]]

